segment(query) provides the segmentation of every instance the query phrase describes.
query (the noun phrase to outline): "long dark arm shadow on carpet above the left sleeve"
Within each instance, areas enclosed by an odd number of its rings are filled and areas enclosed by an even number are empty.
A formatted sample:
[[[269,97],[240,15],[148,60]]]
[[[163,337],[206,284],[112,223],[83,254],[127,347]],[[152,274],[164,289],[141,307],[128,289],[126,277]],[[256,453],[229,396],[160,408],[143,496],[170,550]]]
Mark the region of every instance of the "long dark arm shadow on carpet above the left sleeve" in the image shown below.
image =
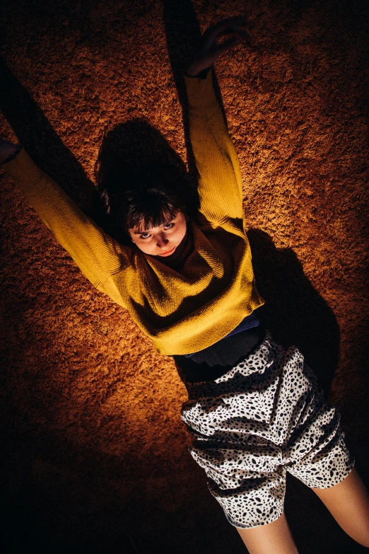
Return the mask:
[[[96,189],[49,120],[0,57],[0,110],[23,148],[42,171],[90,215]]]

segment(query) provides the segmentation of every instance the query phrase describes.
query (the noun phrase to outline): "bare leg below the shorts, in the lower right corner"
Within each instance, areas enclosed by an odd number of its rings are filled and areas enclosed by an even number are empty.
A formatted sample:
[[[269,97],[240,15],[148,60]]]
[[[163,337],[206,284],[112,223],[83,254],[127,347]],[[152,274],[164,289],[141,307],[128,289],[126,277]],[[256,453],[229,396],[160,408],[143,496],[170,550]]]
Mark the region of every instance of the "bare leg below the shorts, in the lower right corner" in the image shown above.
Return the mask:
[[[329,489],[312,489],[346,533],[369,548],[369,494],[355,469]]]

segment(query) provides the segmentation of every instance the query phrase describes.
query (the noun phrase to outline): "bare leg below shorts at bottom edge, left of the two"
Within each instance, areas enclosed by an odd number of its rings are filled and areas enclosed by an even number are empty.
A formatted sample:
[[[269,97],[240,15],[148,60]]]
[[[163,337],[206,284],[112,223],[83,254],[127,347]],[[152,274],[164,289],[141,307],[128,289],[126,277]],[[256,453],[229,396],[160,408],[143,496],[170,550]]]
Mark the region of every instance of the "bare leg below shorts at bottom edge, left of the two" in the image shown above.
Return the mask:
[[[284,512],[270,524],[237,530],[250,554],[298,554]]]

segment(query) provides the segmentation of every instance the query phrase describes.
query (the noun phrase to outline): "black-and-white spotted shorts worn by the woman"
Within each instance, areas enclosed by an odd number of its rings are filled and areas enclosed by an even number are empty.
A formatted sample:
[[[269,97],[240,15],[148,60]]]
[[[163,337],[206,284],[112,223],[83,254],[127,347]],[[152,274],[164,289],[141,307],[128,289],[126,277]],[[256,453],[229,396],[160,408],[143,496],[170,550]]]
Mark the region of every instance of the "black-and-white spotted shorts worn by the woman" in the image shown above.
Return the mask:
[[[186,383],[182,420],[189,449],[230,524],[271,523],[283,512],[286,471],[308,487],[340,483],[353,468],[339,412],[324,403],[315,374],[296,347],[270,333],[214,381]]]

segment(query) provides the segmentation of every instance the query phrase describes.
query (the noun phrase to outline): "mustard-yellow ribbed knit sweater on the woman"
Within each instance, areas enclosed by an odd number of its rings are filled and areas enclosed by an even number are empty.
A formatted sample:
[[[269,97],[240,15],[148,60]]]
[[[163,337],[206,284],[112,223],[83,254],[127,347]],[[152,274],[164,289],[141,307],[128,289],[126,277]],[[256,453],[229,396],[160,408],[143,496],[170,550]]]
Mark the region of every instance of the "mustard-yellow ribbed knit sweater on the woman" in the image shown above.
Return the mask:
[[[194,250],[180,270],[121,246],[86,217],[24,150],[4,165],[90,282],[127,308],[161,354],[190,354],[228,335],[263,304],[245,234],[238,156],[206,79],[187,78],[189,131],[199,171]]]

